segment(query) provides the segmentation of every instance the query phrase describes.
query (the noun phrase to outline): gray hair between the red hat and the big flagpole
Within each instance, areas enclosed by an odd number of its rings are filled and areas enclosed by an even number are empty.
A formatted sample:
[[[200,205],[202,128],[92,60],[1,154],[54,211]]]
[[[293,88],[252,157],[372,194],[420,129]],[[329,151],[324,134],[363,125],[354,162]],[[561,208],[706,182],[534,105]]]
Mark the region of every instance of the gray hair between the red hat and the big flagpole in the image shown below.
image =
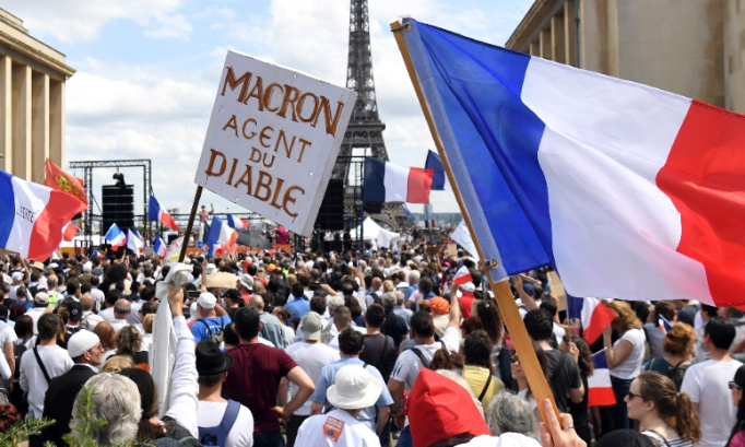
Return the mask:
[[[530,403],[509,391],[502,391],[492,399],[486,408],[486,422],[494,436],[520,433],[535,437],[535,414]]]

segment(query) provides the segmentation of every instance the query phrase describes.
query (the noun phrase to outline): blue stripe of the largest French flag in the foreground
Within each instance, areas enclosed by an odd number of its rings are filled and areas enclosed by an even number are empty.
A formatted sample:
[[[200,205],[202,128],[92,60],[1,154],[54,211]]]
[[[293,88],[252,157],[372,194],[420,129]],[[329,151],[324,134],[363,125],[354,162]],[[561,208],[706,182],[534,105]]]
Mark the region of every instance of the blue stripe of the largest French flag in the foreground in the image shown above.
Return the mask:
[[[459,190],[484,255],[501,259],[508,274],[553,264],[537,156],[545,125],[520,101],[530,57],[404,22],[413,25],[404,38],[454,177],[471,180]]]

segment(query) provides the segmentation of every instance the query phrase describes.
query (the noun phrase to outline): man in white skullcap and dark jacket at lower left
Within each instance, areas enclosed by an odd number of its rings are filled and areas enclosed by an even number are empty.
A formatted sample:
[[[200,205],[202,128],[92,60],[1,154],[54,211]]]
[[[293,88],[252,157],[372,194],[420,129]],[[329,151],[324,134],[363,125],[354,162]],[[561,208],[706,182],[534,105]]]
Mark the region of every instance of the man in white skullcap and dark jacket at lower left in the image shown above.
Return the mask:
[[[49,440],[56,446],[67,445],[62,436],[70,433],[75,396],[87,379],[98,373],[103,352],[98,336],[91,331],[81,330],[68,340],[68,354],[74,364],[70,370],[49,381],[44,398],[44,417],[55,420],[55,423],[42,432],[43,443]]]

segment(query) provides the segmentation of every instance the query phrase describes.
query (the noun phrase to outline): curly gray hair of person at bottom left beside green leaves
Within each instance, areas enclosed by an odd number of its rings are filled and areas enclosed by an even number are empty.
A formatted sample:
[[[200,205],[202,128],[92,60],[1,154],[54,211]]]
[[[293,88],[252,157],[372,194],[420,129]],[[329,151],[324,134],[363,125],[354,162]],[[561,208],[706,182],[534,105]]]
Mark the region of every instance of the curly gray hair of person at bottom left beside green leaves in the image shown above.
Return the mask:
[[[85,383],[85,388],[93,389],[91,417],[106,421],[106,424],[91,433],[96,443],[108,446],[134,440],[142,416],[137,385],[128,377],[100,373],[91,377]],[[81,393],[78,393],[72,407],[73,419],[70,421],[70,428],[75,437],[80,435],[78,427],[82,425],[79,412],[83,403],[80,397]]]

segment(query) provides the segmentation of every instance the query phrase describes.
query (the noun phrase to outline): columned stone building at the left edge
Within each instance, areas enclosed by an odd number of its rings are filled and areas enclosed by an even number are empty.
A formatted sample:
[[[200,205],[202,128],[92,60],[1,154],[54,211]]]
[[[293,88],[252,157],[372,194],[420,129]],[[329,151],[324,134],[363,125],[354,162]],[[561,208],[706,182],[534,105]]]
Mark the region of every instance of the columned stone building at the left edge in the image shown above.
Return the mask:
[[[1,169],[44,183],[47,157],[64,167],[64,83],[74,72],[0,9]]]

